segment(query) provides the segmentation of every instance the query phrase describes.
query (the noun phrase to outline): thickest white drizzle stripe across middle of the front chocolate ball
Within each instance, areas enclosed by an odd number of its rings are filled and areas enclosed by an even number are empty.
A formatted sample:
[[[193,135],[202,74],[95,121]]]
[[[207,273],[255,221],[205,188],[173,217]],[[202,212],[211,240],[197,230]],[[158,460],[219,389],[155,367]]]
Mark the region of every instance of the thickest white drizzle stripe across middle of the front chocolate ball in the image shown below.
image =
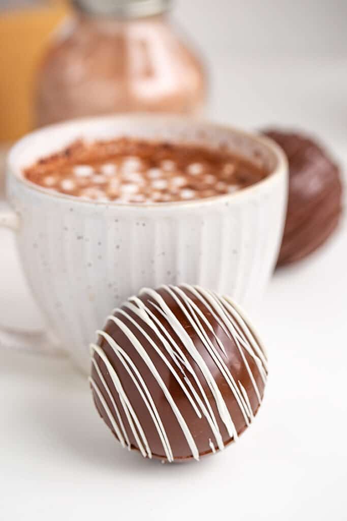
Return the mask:
[[[194,359],[195,363],[198,365],[203,377],[205,378],[208,387],[210,388],[213,398],[215,400],[217,410],[220,414],[220,417],[228,431],[228,434],[230,437],[237,437],[237,432],[233,423],[233,420],[230,416],[230,413],[228,411],[228,408],[225,404],[225,401],[223,400],[223,396],[221,394],[221,391],[219,390],[215,379],[213,378],[210,369],[208,368],[207,364],[205,363],[203,357],[199,353],[199,351],[196,349],[196,346],[192,342],[191,338],[189,337],[187,331],[182,326],[181,322],[176,318],[176,316],[172,313],[170,307],[166,304],[164,299],[162,298],[159,293],[157,293],[154,290],[151,289],[143,289],[140,291],[140,295],[143,293],[147,293],[154,299],[157,304],[161,307],[164,318],[170,326],[173,328],[173,330],[176,332],[179,339],[182,340],[185,348],[187,349],[190,356]]]

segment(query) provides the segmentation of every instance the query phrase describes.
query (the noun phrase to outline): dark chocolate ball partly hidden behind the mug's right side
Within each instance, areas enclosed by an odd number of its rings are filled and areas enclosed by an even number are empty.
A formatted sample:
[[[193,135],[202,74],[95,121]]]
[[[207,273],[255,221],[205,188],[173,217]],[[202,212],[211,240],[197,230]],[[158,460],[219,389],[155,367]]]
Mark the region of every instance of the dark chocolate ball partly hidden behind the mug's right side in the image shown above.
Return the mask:
[[[342,211],[340,171],[310,138],[282,130],[264,134],[288,157],[288,211],[277,264],[289,264],[316,250],[337,227]]]

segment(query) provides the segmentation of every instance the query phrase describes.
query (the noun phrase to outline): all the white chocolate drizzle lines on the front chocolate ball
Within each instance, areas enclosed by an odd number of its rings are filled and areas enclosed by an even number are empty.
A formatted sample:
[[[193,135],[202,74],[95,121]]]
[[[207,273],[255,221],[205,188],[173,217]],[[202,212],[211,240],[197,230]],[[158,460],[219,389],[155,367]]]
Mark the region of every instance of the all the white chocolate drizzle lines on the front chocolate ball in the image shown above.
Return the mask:
[[[155,352],[156,355],[159,355],[161,361],[165,364],[172,377],[182,389],[182,392],[186,396],[197,417],[204,417],[207,420],[211,429],[211,437],[208,439],[208,445],[213,453],[216,452],[216,446],[219,450],[223,450],[224,442],[220,432],[219,422],[217,421],[211,406],[212,400],[214,401],[220,422],[222,421],[224,424],[230,439],[236,441],[238,433],[233,418],[231,417],[223,398],[223,394],[221,393],[207,364],[209,357],[219,369],[220,374],[225,379],[230,391],[232,392],[245,420],[246,426],[251,423],[254,417],[249,395],[244,385],[242,385],[239,380],[235,380],[232,375],[232,370],[230,370],[227,365],[228,357],[226,349],[214,330],[213,326],[215,325],[215,322],[219,328],[223,330],[224,334],[235,342],[237,351],[240,354],[240,359],[247,370],[251,386],[254,389],[259,404],[261,403],[260,390],[247,361],[246,354],[254,362],[254,365],[258,369],[259,375],[264,383],[267,376],[266,354],[258,337],[255,336],[253,330],[247,325],[247,320],[242,316],[242,312],[228,297],[222,297],[212,291],[204,290],[198,286],[189,286],[188,284],[183,284],[180,287],[161,286],[160,290],[164,291],[165,294],[175,301],[175,304],[177,304],[179,310],[184,314],[190,326],[189,330],[194,331],[194,336],[199,338],[200,343],[208,353],[207,357],[203,357],[198,351],[184,325],[178,320],[172,309],[158,291],[144,288],[140,291],[139,295],[146,295],[148,297],[146,302],[143,302],[139,297],[133,296],[123,304],[122,308],[114,309],[113,315],[110,315],[108,320],[114,322],[114,324],[126,336],[127,340],[131,343],[140,358],[142,358],[142,361],[156,380],[169,407],[176,417],[187,441],[192,457],[194,457],[195,460],[199,460],[199,451],[194,436],[192,435],[189,425],[187,425],[187,422],[179,410],[172,394],[161,377],[159,368],[157,368],[155,363],[152,361],[151,350],[144,348],[142,343],[136,337],[136,334],[134,334],[134,329],[131,329],[130,327],[133,326],[135,331],[138,331],[144,338],[146,338],[153,352]],[[197,301],[208,310],[209,313],[206,316],[197,305]],[[133,316],[135,315],[138,320],[135,320],[128,312],[131,312]],[[161,315],[160,320],[158,318],[158,313]],[[117,314],[117,316],[114,316],[115,314]],[[212,323],[207,318],[208,316],[213,318]],[[131,326],[127,325],[124,322],[124,319],[127,324],[130,322]],[[165,327],[165,324],[167,324],[168,327]],[[146,328],[143,326],[146,326]],[[151,331],[150,335],[146,331],[148,328]],[[171,334],[170,331],[173,331],[174,334]],[[209,331],[209,334],[207,331]],[[146,381],[140,374],[140,371],[128,353],[126,353],[122,346],[115,342],[107,332],[97,331],[97,334],[108,343],[109,348],[111,348],[119,363],[131,378],[141,399],[143,400],[144,407],[148,411],[151,420],[153,421],[153,425],[158,432],[166,459],[169,462],[174,461],[168,433],[163,425],[155,400],[153,400],[151,392]],[[179,344],[181,344],[181,346],[183,345],[184,349],[182,349],[174,337],[179,340]],[[212,342],[212,339],[214,342]],[[114,389],[118,393],[119,402],[123,408],[124,415],[127,419],[128,425],[130,426],[139,451],[144,457],[151,458],[152,452],[146,438],[146,433],[140,425],[136,412],[122,387],[117,370],[113,367],[105,351],[101,349],[99,345],[92,344],[91,353],[93,367],[95,368],[99,379],[98,383],[95,379],[91,378],[91,386],[96,397],[99,399],[101,406],[104,408],[106,416],[109,419],[115,434],[120,440],[122,446],[127,447],[130,450],[131,443],[122,421],[122,415],[112,396],[111,389],[102,375],[100,366],[98,365],[99,358],[96,358],[94,353],[99,355],[102,363],[108,371]],[[199,371],[194,369],[185,353],[191,357]],[[205,388],[209,388],[212,395],[210,400],[204,391],[201,380],[205,382]],[[105,393],[108,396],[109,403],[112,407],[108,405],[105,399]]]

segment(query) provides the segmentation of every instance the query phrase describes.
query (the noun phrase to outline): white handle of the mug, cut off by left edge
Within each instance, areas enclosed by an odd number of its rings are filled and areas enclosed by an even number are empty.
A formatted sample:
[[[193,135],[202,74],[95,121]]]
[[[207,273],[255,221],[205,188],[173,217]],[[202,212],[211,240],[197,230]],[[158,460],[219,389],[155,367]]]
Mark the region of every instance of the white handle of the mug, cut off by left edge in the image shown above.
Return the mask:
[[[9,228],[14,232],[18,232],[19,225],[20,219],[15,212],[0,209],[0,228]],[[49,331],[44,329],[26,331],[8,328],[3,324],[0,324],[0,348],[53,356],[65,354],[59,342]]]

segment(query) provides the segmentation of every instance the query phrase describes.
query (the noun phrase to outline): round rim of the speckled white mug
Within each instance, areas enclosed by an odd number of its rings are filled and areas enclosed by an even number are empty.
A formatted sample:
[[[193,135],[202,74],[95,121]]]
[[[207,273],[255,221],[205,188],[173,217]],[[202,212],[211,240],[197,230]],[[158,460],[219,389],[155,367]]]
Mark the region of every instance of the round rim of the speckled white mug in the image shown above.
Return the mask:
[[[239,135],[241,137],[246,137],[252,141],[258,142],[265,146],[268,151],[270,151],[276,159],[276,166],[264,179],[251,184],[249,187],[242,188],[241,190],[237,190],[234,193],[223,194],[223,195],[214,195],[212,197],[204,197],[203,199],[192,199],[185,201],[169,201],[163,203],[119,203],[117,201],[98,201],[98,200],[89,200],[84,199],[83,197],[76,197],[74,195],[68,195],[61,192],[51,191],[47,188],[41,187],[38,184],[35,184],[28,179],[26,179],[23,175],[21,175],[21,170],[18,169],[14,163],[16,160],[17,153],[19,153],[20,149],[30,142],[32,139],[40,137],[41,134],[44,134],[47,130],[61,129],[63,131],[66,127],[79,127],[80,125],[86,125],[88,122],[91,124],[102,123],[102,121],[121,121],[122,119],[132,119],[133,121],[139,120],[142,123],[144,121],[157,121],[157,122],[181,122],[182,125],[188,125],[189,123],[195,123],[201,127],[208,127],[215,129],[216,131],[227,131],[232,132],[234,135]],[[121,208],[122,210],[126,209],[145,209],[145,208],[156,208],[156,209],[164,209],[171,207],[194,207],[200,205],[208,205],[216,202],[228,203],[232,202],[235,199],[239,199],[242,196],[248,195],[255,191],[258,191],[260,188],[264,187],[264,185],[268,185],[272,183],[274,179],[282,175],[282,173],[287,173],[288,171],[288,160],[285,153],[282,151],[280,146],[273,141],[271,138],[268,138],[260,133],[242,130],[238,127],[234,127],[233,125],[227,125],[224,123],[216,123],[214,121],[210,121],[207,119],[198,119],[191,118],[187,116],[179,116],[179,115],[171,115],[171,114],[150,114],[150,113],[122,113],[117,115],[108,115],[108,116],[95,116],[95,117],[84,117],[78,119],[71,119],[67,121],[62,121],[59,123],[54,123],[54,125],[48,125],[42,127],[40,129],[34,130],[28,134],[25,134],[21,139],[19,139],[14,145],[11,146],[7,158],[6,158],[6,177],[7,179],[11,176],[15,178],[18,182],[24,185],[26,188],[40,193],[41,195],[53,197],[53,199],[65,200],[70,204],[83,204],[83,205],[100,205],[102,207],[108,206],[112,208]],[[8,181],[7,181],[8,182]]]

